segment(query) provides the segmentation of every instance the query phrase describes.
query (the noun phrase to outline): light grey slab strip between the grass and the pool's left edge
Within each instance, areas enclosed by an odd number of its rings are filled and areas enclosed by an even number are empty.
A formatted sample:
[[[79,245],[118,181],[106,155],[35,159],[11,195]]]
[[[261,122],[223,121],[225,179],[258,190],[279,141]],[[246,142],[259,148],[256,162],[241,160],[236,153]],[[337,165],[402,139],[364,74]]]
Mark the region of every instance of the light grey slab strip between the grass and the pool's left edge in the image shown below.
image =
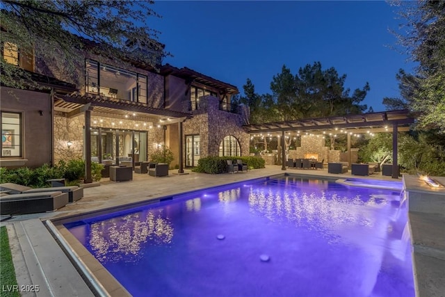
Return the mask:
[[[42,221],[22,220],[13,227],[31,278],[27,284],[17,278],[19,288],[36,291],[23,292],[22,296],[94,296]]]

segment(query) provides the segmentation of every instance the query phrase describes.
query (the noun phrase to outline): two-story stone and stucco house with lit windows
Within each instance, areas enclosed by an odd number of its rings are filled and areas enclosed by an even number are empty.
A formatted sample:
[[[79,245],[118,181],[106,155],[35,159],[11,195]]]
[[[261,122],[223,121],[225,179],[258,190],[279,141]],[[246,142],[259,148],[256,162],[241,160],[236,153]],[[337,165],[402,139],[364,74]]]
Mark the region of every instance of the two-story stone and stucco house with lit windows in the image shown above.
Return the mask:
[[[3,59],[26,66],[48,88],[1,88],[1,166],[74,158],[134,163],[165,146],[181,172],[204,156],[249,153],[243,109],[231,104],[238,89],[229,83],[187,67],[155,70],[88,52],[76,57],[74,74],[57,59],[21,64],[19,56],[19,49],[2,50]]]

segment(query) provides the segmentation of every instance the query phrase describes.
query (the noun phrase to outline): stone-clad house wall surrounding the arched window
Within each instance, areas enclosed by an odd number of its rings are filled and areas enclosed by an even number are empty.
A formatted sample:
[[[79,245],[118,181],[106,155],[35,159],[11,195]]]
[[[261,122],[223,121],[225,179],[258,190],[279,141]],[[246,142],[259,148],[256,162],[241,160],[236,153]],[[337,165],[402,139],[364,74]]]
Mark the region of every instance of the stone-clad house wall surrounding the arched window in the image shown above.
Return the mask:
[[[237,113],[220,111],[218,98],[200,97],[200,108],[193,118],[184,122],[186,135],[200,135],[200,157],[219,156],[220,143],[225,136],[234,136],[241,147],[241,156],[249,155],[249,135],[243,129],[243,117]]]

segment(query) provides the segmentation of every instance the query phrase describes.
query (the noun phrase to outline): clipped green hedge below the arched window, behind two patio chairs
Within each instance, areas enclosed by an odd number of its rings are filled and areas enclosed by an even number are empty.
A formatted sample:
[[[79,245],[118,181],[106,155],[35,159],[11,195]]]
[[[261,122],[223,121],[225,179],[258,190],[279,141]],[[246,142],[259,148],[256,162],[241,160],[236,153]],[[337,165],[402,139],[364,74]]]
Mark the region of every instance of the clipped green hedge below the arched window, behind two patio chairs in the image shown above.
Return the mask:
[[[249,169],[264,168],[266,161],[258,156],[208,156],[197,161],[197,168],[193,171],[209,174],[219,174],[227,172],[227,161],[232,160],[236,163],[241,159],[243,163],[248,164]]]

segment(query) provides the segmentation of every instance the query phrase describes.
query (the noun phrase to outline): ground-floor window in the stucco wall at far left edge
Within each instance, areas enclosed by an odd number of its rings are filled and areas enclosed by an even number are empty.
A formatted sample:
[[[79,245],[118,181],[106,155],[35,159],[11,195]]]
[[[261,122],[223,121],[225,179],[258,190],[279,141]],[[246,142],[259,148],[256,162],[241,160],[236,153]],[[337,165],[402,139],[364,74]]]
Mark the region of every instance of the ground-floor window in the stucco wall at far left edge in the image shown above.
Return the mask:
[[[22,114],[1,111],[1,156],[22,156]]]

